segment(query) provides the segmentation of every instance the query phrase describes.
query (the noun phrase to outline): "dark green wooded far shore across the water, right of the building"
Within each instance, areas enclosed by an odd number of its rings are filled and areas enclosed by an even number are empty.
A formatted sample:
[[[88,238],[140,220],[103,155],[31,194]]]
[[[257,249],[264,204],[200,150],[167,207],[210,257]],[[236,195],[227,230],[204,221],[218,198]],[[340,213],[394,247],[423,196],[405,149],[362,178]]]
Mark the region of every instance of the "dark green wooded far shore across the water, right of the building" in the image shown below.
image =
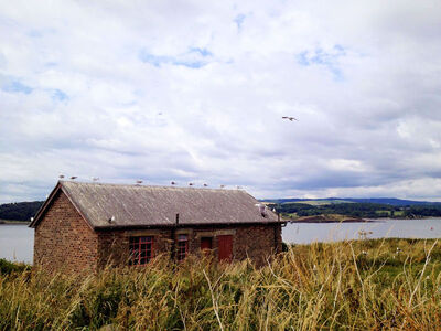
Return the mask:
[[[281,214],[297,214],[298,216],[314,216],[322,214],[341,214],[351,217],[441,217],[440,204],[394,206],[380,203],[334,203],[325,205],[312,205],[305,203],[275,203],[269,204]]]

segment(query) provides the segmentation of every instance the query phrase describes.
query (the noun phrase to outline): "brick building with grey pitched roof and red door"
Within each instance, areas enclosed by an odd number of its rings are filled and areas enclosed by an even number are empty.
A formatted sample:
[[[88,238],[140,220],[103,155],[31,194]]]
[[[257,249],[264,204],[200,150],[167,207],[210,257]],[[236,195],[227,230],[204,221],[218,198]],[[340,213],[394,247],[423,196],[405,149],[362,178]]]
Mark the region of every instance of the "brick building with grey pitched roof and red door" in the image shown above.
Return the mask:
[[[30,226],[35,266],[82,271],[203,249],[261,265],[280,252],[282,224],[243,190],[60,181]]]

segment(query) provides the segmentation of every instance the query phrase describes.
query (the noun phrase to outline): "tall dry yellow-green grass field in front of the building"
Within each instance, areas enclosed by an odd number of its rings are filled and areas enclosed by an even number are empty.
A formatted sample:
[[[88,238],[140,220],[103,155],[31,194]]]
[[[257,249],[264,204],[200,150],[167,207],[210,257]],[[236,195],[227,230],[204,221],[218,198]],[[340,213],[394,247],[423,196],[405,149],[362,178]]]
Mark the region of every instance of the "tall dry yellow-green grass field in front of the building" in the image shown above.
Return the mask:
[[[297,245],[263,268],[19,268],[0,279],[0,330],[440,330],[440,243],[411,239]]]

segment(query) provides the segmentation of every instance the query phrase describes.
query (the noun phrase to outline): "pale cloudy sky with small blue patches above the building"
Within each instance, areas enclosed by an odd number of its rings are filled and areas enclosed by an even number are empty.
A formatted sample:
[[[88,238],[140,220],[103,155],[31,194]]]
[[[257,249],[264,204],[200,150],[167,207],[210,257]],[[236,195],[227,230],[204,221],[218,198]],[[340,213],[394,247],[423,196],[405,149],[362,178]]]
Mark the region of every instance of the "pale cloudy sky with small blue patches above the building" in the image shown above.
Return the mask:
[[[0,0],[0,203],[60,174],[441,201],[441,2]]]

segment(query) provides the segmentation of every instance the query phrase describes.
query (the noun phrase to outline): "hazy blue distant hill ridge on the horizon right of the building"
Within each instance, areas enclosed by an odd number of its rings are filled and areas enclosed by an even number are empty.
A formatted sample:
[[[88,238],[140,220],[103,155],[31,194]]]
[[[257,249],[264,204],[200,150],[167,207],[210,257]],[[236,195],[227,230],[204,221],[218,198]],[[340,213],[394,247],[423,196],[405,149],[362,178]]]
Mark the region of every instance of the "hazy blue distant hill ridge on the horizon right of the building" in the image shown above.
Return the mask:
[[[415,201],[415,200],[404,200],[396,197],[324,197],[324,199],[262,199],[262,202],[271,203],[293,203],[301,202],[306,204],[333,204],[333,203],[378,203],[378,204],[389,204],[394,206],[407,206],[407,205],[441,205],[441,202],[430,202],[430,201]]]

